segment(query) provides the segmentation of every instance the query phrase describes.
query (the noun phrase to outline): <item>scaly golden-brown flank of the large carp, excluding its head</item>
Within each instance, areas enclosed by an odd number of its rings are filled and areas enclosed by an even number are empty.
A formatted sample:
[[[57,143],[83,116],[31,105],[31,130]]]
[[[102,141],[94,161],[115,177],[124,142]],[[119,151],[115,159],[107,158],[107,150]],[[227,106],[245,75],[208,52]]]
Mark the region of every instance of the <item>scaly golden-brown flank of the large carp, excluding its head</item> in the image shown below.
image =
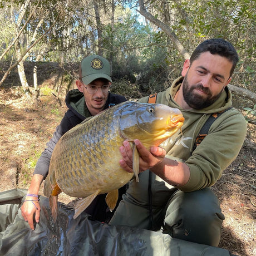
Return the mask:
[[[64,193],[76,197],[91,195],[96,189],[106,193],[109,183],[117,189],[132,178],[133,174],[119,165],[119,147],[124,141],[119,132],[120,116],[120,110],[112,107],[62,136],[51,168]],[[113,169],[117,171],[113,173]]]

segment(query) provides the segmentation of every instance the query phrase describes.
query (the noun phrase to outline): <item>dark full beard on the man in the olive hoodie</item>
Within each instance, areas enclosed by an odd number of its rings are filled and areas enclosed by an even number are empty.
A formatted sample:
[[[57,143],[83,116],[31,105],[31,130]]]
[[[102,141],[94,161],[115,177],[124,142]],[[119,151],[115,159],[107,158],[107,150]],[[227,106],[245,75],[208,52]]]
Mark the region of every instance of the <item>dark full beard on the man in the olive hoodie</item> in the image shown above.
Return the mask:
[[[203,91],[204,93],[206,93],[206,97],[202,97],[201,95],[194,93],[194,89],[199,89]],[[188,104],[193,109],[205,109],[205,107],[209,107],[219,98],[222,91],[223,90],[221,90],[218,95],[212,96],[208,87],[204,87],[200,83],[190,86],[186,75],[183,80],[184,100],[186,104]]]

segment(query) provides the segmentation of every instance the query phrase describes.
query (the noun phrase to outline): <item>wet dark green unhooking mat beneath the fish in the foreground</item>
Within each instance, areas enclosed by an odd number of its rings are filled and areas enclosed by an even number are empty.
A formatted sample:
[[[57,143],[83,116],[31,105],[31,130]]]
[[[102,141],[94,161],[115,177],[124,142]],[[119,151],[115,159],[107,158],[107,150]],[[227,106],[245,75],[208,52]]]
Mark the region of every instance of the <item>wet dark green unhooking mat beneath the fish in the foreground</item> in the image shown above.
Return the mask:
[[[32,231],[21,215],[26,190],[0,193],[0,255],[173,255],[228,256],[228,250],[171,238],[168,234],[92,220],[86,213],[58,203],[52,223],[48,198],[40,196],[40,223]]]

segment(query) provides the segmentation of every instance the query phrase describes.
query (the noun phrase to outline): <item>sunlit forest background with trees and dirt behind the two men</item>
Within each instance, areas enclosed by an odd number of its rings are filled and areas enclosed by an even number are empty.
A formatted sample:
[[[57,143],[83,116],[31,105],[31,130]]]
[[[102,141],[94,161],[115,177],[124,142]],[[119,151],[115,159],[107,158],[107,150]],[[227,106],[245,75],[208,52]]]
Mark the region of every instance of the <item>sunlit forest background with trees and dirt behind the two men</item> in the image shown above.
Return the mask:
[[[221,37],[240,57],[229,88],[248,134],[213,188],[226,216],[220,247],[255,255],[255,9],[250,0],[0,0],[0,191],[28,188],[83,57],[107,58],[112,92],[136,100],[170,86],[200,42]]]

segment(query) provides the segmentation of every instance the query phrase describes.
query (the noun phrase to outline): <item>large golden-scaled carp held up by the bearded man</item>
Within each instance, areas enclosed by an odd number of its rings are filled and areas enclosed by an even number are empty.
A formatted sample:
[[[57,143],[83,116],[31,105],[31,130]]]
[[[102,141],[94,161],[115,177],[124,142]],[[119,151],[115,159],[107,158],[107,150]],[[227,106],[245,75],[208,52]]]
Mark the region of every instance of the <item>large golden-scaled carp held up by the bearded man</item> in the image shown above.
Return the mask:
[[[133,141],[147,149],[158,146],[178,131],[184,117],[178,109],[162,104],[126,101],[89,117],[66,132],[52,152],[43,193],[50,198],[53,220],[57,218],[58,194],[82,198],[75,204],[75,219],[99,194],[114,209],[118,189],[135,175],[139,181],[139,155]],[[133,173],[121,168],[119,147],[124,140],[134,149]]]

